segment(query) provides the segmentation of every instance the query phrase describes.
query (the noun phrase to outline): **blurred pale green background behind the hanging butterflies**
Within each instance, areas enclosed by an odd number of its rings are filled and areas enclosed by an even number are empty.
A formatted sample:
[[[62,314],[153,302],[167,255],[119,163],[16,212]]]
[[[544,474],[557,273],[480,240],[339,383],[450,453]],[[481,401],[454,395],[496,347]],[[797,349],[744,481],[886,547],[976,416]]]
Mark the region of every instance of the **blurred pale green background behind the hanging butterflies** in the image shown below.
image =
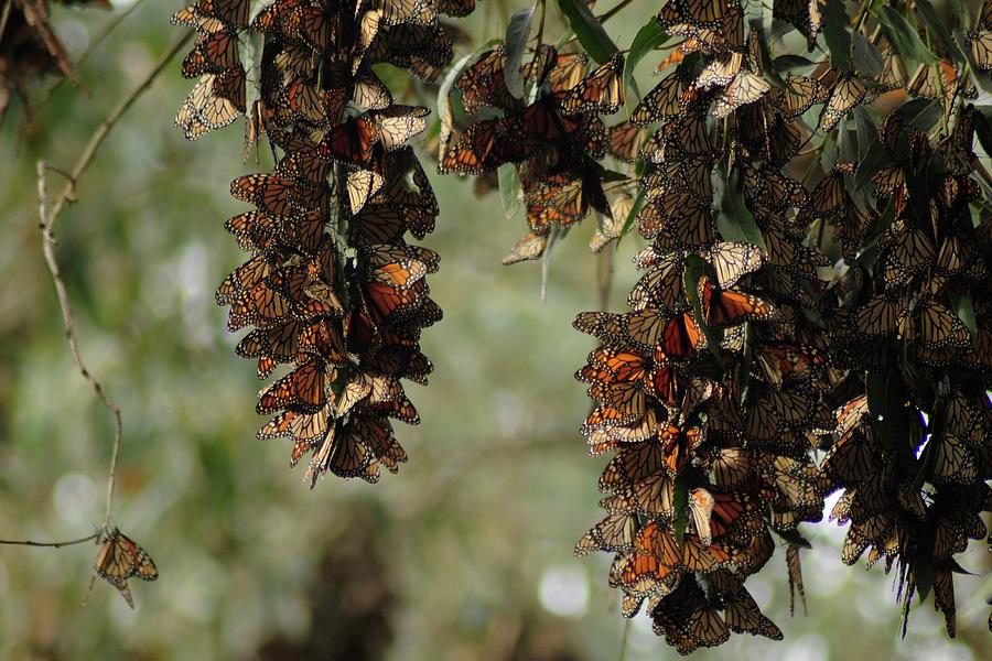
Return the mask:
[[[524,4],[485,0],[460,25],[497,36]],[[85,91],[62,85],[30,121],[13,108],[0,130],[0,538],[83,537],[103,518],[112,427],[69,360],[34,163],[72,166],[177,36],[179,7],[144,2],[82,65]],[[557,39],[553,8],[546,34]],[[607,31],[623,47],[655,9],[636,1]],[[56,8],[53,23],[78,57],[114,15]],[[376,486],[326,479],[311,491],[285,442],[255,440],[260,383],[213,300],[244,259],[223,228],[246,210],[228,183],[257,166],[241,161],[240,124],[183,141],[172,117],[192,83],[177,69],[120,122],[57,228],[80,348],[123,412],[115,519],[161,578],[131,582],[133,611],[104,582],[83,608],[96,546],[0,546],[0,658],[608,660],[625,639],[628,660],[677,657],[646,617],[626,626],[606,554],[572,556],[600,514],[606,462],[585,454],[589,404],[572,379],[592,342],[571,321],[599,305],[593,221],[556,249],[542,302],[540,264],[499,266],[524,227],[497,196],[476,199],[471,182],[429,167],[442,215],[425,245],[442,256],[431,289],[445,318],[424,334],[430,387],[408,388],[423,423],[397,425],[411,460]],[[405,100],[433,106],[422,89]],[[614,254],[614,310],[639,247],[625,239]],[[748,585],[786,640],[735,636],[699,657],[992,658],[988,581],[957,579],[957,641],[929,602],[901,641],[892,577],[842,566],[833,524],[805,534],[809,615],[789,617],[783,551]],[[962,564],[981,576],[989,554],[975,545]]]

